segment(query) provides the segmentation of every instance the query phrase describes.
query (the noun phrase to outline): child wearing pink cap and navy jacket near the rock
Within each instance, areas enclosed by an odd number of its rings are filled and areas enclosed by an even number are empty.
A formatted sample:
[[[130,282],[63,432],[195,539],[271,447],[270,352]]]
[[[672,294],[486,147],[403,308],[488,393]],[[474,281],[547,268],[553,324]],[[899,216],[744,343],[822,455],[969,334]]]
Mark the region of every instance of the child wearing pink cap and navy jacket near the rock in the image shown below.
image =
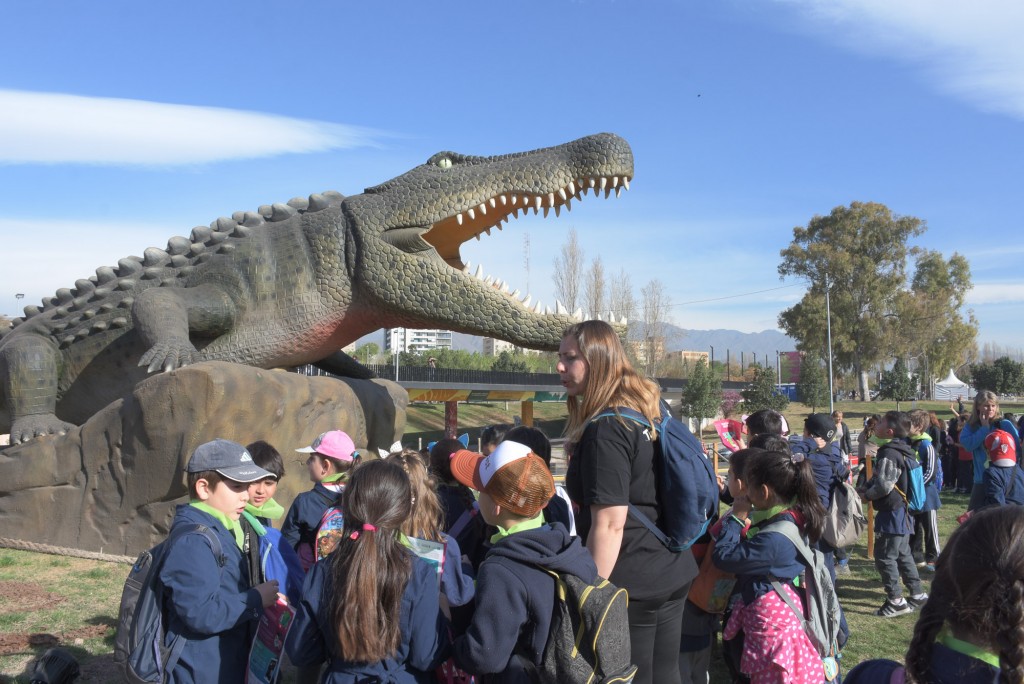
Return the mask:
[[[309,446],[295,450],[308,454],[306,467],[313,488],[303,491],[288,510],[281,536],[299,555],[302,569],[309,571],[316,559],[316,529],[327,509],[341,501],[348,471],[359,462],[352,438],[341,430],[325,432]]]

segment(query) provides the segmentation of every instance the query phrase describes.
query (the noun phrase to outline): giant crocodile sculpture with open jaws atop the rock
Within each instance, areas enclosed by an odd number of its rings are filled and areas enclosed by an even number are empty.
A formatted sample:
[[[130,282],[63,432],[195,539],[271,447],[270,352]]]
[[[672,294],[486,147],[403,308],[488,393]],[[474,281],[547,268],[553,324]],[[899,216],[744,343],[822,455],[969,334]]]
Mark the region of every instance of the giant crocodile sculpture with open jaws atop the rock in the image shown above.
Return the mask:
[[[460,248],[520,212],[617,195],[633,154],[601,133],[498,157],[442,152],[361,195],[237,212],[57,290],[0,337],[0,433],[60,433],[157,371],[199,360],[368,371],[341,347],[384,327],[557,348],[574,316],[470,273]]]

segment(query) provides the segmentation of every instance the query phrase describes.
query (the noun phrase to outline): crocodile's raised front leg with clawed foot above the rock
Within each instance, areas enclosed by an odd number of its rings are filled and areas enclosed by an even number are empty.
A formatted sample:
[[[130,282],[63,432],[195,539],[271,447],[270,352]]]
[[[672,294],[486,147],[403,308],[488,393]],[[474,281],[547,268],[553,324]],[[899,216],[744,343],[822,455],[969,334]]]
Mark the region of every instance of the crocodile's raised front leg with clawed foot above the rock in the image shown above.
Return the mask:
[[[188,339],[219,337],[231,330],[238,308],[222,288],[151,288],[132,305],[135,330],[148,349],[139,360],[146,371],[173,371],[200,359]]]

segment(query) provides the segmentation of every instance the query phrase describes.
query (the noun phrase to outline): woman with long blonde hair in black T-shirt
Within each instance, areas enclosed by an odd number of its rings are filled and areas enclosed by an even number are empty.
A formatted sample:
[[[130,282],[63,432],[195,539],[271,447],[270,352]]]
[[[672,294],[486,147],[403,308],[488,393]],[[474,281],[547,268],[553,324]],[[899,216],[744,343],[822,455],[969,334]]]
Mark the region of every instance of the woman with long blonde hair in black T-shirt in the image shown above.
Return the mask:
[[[633,369],[615,331],[601,320],[565,331],[558,374],[568,395],[565,488],[580,507],[577,531],[598,574],[629,591],[634,681],[678,684],[683,607],[697,567],[692,554],[670,551],[629,515],[632,504],[658,522],[657,434],[621,416],[598,418],[628,408],[655,425],[660,390]]]

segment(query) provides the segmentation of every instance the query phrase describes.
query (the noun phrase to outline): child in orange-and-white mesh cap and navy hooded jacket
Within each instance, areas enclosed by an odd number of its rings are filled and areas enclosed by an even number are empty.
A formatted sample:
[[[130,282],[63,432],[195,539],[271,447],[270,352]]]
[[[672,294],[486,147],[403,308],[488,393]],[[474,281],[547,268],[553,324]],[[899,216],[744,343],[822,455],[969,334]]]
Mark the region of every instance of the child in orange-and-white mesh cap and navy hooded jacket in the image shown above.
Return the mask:
[[[528,446],[503,441],[487,457],[462,450],[450,465],[459,482],[480,493],[480,515],[498,527],[477,573],[476,611],[455,640],[456,662],[484,682],[537,681],[555,607],[546,570],[591,583],[597,567],[579,538],[559,522],[544,523],[555,483]]]

